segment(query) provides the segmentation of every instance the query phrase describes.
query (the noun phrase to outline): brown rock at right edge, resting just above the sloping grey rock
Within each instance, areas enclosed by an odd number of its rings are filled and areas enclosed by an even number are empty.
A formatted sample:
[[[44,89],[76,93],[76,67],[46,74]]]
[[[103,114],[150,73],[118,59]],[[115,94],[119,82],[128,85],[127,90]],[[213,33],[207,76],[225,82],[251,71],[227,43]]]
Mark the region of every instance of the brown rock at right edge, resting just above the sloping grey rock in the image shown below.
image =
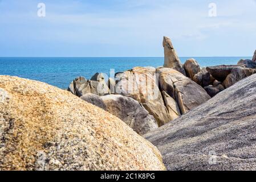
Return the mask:
[[[225,88],[229,88],[230,86],[234,85],[236,82],[242,80],[243,78],[249,77],[255,73],[256,73],[255,69],[235,67],[232,69],[231,73],[226,77],[223,84]]]

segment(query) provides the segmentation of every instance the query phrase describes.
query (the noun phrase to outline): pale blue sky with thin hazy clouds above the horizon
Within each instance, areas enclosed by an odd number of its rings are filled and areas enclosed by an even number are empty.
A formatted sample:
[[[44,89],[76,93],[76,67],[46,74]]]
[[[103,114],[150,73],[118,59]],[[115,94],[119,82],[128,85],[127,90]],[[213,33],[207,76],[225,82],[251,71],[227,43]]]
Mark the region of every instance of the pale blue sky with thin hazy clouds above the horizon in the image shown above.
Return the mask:
[[[0,56],[162,57],[163,36],[178,56],[252,56],[255,12],[256,0],[0,0]]]

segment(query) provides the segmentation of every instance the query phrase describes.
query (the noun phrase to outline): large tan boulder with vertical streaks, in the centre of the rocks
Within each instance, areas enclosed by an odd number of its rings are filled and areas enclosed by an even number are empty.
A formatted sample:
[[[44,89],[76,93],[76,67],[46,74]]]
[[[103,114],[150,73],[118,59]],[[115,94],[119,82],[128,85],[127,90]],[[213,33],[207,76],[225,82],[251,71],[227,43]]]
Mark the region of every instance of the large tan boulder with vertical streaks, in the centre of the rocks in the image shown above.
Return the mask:
[[[159,126],[170,121],[156,77],[148,69],[136,67],[119,75],[118,79],[116,94],[132,97],[143,104]]]

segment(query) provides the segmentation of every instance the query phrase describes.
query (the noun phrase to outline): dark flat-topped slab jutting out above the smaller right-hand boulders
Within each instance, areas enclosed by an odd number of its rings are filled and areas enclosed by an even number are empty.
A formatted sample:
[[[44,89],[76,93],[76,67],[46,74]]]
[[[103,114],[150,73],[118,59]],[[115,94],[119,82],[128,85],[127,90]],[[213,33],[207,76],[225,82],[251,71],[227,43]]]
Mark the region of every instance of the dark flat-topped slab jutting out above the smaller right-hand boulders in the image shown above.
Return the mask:
[[[224,81],[235,67],[245,67],[243,64],[238,65],[220,65],[216,67],[206,67],[206,70],[218,81]]]

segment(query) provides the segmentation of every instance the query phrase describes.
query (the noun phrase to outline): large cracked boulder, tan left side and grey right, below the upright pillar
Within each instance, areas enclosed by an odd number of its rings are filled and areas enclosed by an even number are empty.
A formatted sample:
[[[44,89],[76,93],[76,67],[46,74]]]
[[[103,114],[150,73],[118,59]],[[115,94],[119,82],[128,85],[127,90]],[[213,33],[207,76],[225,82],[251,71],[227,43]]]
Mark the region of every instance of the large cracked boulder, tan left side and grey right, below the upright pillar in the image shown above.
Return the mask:
[[[173,97],[181,111],[185,114],[190,109],[210,99],[206,91],[196,82],[171,68],[159,68],[159,88]]]

